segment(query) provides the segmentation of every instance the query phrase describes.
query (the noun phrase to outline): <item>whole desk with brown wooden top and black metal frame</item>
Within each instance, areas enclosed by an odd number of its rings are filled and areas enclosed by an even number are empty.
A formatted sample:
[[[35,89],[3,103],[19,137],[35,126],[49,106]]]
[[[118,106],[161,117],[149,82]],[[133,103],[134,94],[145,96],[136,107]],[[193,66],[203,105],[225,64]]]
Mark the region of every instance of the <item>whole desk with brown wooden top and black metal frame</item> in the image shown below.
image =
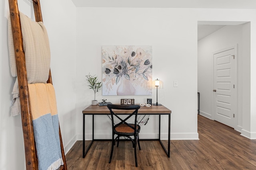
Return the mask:
[[[120,115],[125,115],[130,113],[129,110],[115,110],[116,113]],[[107,106],[88,106],[86,109],[82,111],[83,113],[83,158],[87,154],[90,149],[92,143],[94,141],[102,141],[102,140],[111,140],[111,139],[94,139],[94,115],[110,115],[110,111]],[[138,115],[159,115],[159,133],[158,139],[140,139],[140,140],[157,140],[162,145],[164,151],[166,152],[168,158],[170,158],[170,126],[171,126],[171,113],[172,111],[167,109],[164,106],[151,106],[151,107],[140,107],[138,110]],[[92,141],[89,144],[88,148],[85,151],[85,115],[92,115]],[[168,115],[168,150],[164,147],[162,141],[160,140],[160,132],[161,132],[161,115]]]

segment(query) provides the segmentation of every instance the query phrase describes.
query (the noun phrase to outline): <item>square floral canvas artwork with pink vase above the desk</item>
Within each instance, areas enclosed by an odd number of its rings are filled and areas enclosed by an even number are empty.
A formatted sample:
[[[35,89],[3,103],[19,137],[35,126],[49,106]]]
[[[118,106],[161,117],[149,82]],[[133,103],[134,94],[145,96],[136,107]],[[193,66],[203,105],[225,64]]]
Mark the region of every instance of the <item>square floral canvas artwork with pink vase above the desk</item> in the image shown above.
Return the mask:
[[[102,95],[152,95],[152,46],[102,46]]]

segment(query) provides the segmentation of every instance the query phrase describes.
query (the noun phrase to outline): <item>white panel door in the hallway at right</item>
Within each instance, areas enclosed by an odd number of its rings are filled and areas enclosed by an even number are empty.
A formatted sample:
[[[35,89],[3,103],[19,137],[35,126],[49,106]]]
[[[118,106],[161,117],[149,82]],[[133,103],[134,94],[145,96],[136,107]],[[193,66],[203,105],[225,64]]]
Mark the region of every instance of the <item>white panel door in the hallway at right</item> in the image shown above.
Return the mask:
[[[236,111],[235,48],[214,54],[214,120],[234,128]]]

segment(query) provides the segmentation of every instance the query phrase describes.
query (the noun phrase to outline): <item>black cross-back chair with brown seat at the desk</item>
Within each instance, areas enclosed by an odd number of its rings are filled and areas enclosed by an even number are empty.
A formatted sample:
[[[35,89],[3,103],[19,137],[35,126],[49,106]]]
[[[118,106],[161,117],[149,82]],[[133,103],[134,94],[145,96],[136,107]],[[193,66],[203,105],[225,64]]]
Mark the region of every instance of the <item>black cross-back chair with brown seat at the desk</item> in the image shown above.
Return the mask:
[[[138,109],[140,109],[139,105],[114,105],[114,104],[108,104],[108,109],[111,113],[111,119],[112,119],[112,147],[111,147],[111,154],[109,158],[109,162],[111,162],[112,155],[113,155],[113,149],[114,145],[117,141],[117,147],[119,145],[119,139],[120,137],[127,137],[132,141],[132,147],[134,147],[134,156],[135,156],[135,164],[136,167],[138,166],[137,162],[137,143],[138,147],[140,149],[140,141],[139,141],[139,133],[140,133],[140,126],[137,125],[137,115],[138,115]],[[124,119],[120,118],[112,109],[118,109],[118,110],[134,110],[132,113],[128,113],[128,116]],[[134,124],[127,123],[126,121],[132,117],[132,115],[135,115]],[[117,117],[120,122],[115,124],[114,123],[114,116]],[[117,135],[116,138],[114,138],[114,135]],[[132,139],[132,136],[134,139]],[[140,149],[141,150],[141,149]]]

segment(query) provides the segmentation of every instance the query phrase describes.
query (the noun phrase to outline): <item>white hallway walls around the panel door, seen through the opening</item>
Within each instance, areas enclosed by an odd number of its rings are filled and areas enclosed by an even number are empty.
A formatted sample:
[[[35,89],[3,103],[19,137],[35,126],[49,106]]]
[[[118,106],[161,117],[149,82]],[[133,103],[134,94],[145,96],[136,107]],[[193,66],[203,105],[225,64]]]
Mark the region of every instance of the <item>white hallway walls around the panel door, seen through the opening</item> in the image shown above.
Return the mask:
[[[213,52],[232,45],[237,45],[237,103],[234,129],[242,130],[244,110],[250,105],[250,26],[228,25],[198,41],[198,92],[200,92],[200,114],[213,119]],[[244,31],[246,29],[246,31]],[[247,35],[247,36],[246,36]],[[244,44],[248,45],[244,46]],[[247,47],[247,49],[245,49]],[[249,55],[245,55],[249,53]],[[244,87],[246,86],[246,87]],[[249,92],[248,92],[249,90]],[[248,92],[246,94],[246,92]],[[246,94],[246,95],[245,95]],[[244,96],[244,97],[243,97]]]

